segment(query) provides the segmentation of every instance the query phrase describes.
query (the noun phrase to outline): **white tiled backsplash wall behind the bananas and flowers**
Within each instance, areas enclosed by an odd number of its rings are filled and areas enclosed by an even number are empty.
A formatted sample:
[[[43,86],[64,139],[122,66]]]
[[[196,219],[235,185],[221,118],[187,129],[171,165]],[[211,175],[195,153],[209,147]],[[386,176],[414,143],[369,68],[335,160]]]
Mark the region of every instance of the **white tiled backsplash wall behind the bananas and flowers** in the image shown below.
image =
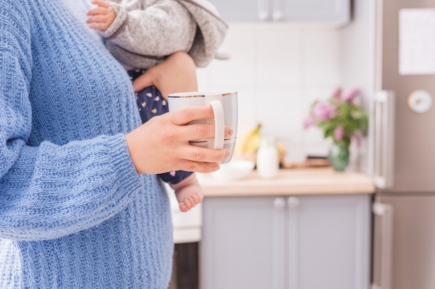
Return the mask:
[[[303,120],[315,99],[340,86],[340,33],[286,24],[229,24],[220,51],[229,60],[213,60],[197,70],[199,89],[236,90],[238,140],[256,123],[286,146],[286,160],[326,155],[329,145]]]

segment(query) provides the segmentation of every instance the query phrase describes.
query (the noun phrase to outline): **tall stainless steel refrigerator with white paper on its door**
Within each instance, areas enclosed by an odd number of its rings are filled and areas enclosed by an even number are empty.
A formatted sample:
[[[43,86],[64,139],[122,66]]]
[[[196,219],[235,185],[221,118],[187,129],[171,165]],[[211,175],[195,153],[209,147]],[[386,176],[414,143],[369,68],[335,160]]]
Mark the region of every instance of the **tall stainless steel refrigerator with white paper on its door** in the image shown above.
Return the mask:
[[[435,1],[375,10],[372,289],[434,289]]]

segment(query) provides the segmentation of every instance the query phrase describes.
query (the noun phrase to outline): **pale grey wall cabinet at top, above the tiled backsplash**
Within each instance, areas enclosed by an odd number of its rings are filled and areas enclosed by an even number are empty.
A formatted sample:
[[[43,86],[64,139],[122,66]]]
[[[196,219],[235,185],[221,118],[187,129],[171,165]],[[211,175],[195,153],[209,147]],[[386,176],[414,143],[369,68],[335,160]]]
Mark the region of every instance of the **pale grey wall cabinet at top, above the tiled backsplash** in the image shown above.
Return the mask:
[[[350,21],[350,0],[211,0],[226,21],[290,21],[340,26]]]

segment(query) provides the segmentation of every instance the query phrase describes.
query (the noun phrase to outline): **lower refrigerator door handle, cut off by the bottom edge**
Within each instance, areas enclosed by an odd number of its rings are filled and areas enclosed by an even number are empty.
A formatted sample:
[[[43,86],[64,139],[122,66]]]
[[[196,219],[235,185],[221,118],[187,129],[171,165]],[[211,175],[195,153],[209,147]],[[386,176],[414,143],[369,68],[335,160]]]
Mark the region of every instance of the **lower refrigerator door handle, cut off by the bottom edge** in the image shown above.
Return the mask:
[[[375,216],[373,242],[373,283],[372,289],[392,289],[391,272],[393,265],[393,206],[375,202],[372,207]]]

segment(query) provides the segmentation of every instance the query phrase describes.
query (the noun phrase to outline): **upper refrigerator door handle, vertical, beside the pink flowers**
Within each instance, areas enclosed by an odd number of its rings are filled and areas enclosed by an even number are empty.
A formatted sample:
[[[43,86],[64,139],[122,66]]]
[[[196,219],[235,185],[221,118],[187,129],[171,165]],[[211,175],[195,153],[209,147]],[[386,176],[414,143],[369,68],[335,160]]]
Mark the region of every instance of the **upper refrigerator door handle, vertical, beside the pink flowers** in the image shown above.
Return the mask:
[[[386,189],[394,182],[395,93],[378,91],[375,99],[375,185]]]

